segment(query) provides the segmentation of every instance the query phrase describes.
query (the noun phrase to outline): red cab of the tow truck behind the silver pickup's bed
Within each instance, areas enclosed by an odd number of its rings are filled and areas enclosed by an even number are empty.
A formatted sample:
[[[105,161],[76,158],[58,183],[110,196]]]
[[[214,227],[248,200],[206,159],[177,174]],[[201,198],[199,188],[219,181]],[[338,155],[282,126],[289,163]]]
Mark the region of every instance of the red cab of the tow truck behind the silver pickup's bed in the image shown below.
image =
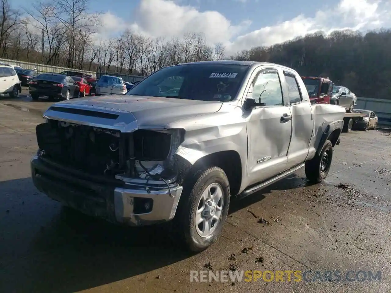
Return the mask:
[[[302,76],[311,104],[330,104],[334,83],[324,77]]]

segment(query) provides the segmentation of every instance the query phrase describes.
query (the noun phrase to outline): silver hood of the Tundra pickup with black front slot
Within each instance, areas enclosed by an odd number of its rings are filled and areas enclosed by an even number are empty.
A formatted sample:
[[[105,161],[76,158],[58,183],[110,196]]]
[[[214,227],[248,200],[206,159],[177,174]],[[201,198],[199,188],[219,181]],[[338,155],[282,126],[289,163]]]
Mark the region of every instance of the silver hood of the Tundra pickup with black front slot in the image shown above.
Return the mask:
[[[95,96],[53,104],[45,118],[122,132],[166,128],[179,120],[219,111],[222,102],[151,96]]]

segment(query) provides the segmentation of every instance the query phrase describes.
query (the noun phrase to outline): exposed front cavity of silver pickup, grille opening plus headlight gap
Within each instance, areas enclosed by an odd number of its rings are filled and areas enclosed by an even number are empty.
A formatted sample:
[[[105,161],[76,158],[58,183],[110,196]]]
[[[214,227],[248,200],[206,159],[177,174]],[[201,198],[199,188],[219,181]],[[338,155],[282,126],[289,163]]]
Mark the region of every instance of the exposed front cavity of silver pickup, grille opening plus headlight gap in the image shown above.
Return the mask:
[[[64,166],[111,178],[169,180],[173,155],[184,139],[181,130],[121,133],[56,120],[36,127],[41,156]]]

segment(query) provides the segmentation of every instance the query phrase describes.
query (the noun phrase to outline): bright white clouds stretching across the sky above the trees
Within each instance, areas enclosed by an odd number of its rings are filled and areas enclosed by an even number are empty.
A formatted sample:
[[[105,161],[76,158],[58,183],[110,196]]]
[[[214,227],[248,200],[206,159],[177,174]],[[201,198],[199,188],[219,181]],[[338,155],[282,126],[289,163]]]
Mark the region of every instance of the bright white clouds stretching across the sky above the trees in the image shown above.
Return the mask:
[[[245,0],[237,0],[245,2]],[[391,26],[389,0],[341,0],[335,7],[320,7],[312,17],[298,15],[291,20],[271,24],[249,32],[251,20],[232,23],[218,11],[199,11],[179,0],[140,0],[135,21],[127,23],[111,13],[102,15],[102,33],[118,34],[130,28],[152,37],[180,37],[184,33],[202,32],[210,43],[226,45],[228,54],[253,46],[281,43],[298,36],[323,30],[368,30]],[[193,2],[194,3],[194,2]]]

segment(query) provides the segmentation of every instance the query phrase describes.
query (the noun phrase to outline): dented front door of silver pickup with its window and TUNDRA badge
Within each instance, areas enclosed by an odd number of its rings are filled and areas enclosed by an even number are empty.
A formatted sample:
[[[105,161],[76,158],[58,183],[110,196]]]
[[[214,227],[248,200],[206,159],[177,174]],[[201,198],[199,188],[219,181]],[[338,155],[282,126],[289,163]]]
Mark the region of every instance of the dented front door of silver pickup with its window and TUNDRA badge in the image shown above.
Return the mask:
[[[254,74],[248,98],[260,103],[244,110],[247,116],[248,184],[264,181],[285,170],[292,131],[292,116],[282,95],[280,75],[275,68]]]

